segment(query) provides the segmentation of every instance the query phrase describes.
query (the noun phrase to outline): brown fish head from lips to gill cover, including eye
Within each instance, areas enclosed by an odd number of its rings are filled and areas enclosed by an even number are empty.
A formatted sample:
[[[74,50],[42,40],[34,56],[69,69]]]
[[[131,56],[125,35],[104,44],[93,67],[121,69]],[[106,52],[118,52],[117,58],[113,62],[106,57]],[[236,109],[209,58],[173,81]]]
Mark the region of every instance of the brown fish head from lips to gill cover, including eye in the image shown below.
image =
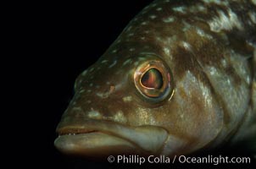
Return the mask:
[[[171,7],[175,3],[156,1],[143,9],[79,75],[58,124],[58,150],[174,156],[200,150],[220,136],[225,107],[216,96],[221,86],[209,76],[220,76],[214,68],[224,49],[206,34],[208,25],[197,18],[179,20],[181,8],[166,12]]]

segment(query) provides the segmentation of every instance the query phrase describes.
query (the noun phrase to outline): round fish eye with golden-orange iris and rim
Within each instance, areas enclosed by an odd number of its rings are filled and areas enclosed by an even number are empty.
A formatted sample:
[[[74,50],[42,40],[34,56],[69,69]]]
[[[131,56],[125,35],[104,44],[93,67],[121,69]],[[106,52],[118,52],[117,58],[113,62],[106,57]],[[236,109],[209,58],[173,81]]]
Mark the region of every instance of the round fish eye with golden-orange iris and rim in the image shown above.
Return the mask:
[[[136,68],[134,83],[143,98],[152,102],[170,100],[174,92],[170,69],[160,59],[141,63]]]

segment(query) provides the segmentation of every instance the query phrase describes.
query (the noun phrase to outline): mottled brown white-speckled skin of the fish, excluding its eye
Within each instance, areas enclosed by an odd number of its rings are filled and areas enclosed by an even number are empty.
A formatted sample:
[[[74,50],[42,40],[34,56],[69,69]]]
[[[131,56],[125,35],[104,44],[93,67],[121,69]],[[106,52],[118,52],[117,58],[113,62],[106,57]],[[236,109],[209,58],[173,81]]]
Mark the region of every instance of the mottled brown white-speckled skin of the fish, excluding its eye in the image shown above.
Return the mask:
[[[127,150],[172,156],[227,140],[255,139],[256,4],[220,2],[154,1],[76,79],[75,96],[58,133],[99,132],[132,145],[92,148],[90,142],[88,149],[79,150],[62,139],[55,142],[57,148],[86,156],[97,156],[102,149],[106,155]],[[154,58],[168,65],[175,87],[171,98],[152,103],[138,92],[133,78],[138,66]],[[164,141],[157,139],[155,148],[147,149],[135,140],[138,135],[126,138],[116,129],[140,127],[159,138],[163,134]],[[150,138],[143,138],[149,144]]]

